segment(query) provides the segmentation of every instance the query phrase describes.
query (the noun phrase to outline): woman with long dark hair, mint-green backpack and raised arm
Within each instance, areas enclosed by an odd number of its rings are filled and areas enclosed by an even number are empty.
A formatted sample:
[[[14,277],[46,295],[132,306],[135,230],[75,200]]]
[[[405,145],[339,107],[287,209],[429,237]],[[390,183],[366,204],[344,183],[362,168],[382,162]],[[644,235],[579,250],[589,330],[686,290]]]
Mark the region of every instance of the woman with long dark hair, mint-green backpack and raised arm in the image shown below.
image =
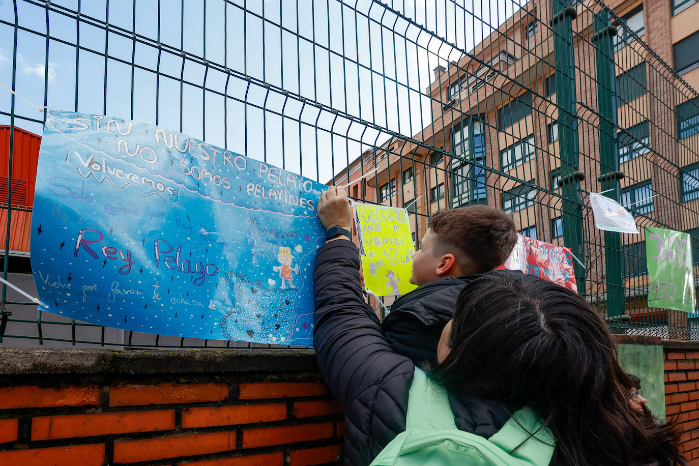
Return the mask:
[[[324,193],[319,218],[351,228],[344,190]],[[612,335],[581,296],[521,272],[482,275],[461,292],[425,377],[368,315],[359,265],[340,234],[318,249],[314,272],[314,346],[345,412],[345,465],[368,465],[405,435],[424,384],[425,405],[445,392],[451,428],[500,460],[458,464],[686,465],[675,430],[629,406]],[[428,413],[420,419],[430,422]]]

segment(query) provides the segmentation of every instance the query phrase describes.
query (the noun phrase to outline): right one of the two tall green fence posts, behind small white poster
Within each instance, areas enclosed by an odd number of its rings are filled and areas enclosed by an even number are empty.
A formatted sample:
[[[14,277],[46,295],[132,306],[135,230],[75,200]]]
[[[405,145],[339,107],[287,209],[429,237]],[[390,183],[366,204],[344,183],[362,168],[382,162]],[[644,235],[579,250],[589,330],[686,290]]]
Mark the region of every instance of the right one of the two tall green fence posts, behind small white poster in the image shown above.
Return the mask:
[[[604,195],[619,201],[619,171],[617,157],[617,101],[614,96],[614,45],[612,37],[617,28],[609,25],[606,9],[596,13],[593,43],[597,65],[597,105],[600,133],[600,181]],[[607,284],[607,316],[620,316],[626,310],[624,296],[624,263],[621,260],[621,233],[605,231],[605,270]]]

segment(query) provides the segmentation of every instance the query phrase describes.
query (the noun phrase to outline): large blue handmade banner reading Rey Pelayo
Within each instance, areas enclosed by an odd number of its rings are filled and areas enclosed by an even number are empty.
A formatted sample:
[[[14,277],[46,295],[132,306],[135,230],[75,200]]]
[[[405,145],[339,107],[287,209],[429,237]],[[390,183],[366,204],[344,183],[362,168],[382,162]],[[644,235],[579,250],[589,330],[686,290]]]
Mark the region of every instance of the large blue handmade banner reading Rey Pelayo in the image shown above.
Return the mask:
[[[176,131],[49,111],[31,233],[39,298],[125,330],[311,345],[324,189]]]

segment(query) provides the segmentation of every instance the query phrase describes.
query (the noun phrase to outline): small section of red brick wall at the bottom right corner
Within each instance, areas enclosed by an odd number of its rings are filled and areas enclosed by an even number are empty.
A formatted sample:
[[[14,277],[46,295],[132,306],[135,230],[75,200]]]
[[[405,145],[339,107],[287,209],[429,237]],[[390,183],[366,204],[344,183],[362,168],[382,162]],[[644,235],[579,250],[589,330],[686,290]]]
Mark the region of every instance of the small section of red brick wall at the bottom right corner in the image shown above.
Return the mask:
[[[677,417],[684,455],[699,465],[699,344],[663,342],[665,352],[665,414]]]

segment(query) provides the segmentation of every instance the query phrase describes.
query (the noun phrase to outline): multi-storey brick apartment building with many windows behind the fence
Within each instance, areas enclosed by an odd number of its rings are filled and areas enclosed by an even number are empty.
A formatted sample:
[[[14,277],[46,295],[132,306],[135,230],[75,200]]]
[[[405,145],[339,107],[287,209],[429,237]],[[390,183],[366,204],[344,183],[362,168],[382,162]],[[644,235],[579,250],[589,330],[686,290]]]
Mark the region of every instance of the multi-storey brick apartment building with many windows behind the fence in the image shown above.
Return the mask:
[[[699,88],[697,3],[610,3],[619,18],[609,22],[625,22],[628,29],[619,28],[612,39],[610,87],[615,89],[618,162],[605,170],[600,168],[599,57],[593,46],[598,10],[577,2],[577,17],[572,20],[580,119],[575,141],[579,166],[574,169],[586,175],[581,189],[599,192],[600,171],[621,170],[625,176],[619,181],[619,201],[640,216],[639,226],[689,231],[695,238],[699,238],[699,100],[691,96]],[[512,213],[524,235],[563,245],[560,183],[565,157],[559,147],[556,102],[561,93],[556,92],[552,16],[551,2],[530,1],[468,54],[435,68],[433,81],[424,90],[431,97],[431,124],[411,140],[394,137],[363,152],[349,166],[350,196],[408,208],[416,239],[435,210],[487,203]],[[375,174],[352,182],[375,169]],[[570,168],[563,174],[566,171]],[[347,184],[347,171],[335,180]],[[591,214],[584,214],[582,231],[589,243],[587,293],[604,295],[604,240]],[[694,248],[696,263],[699,248]],[[647,286],[644,235],[622,235],[621,249],[625,288]],[[633,300],[638,294],[627,292],[626,297]],[[645,304],[633,307],[640,310]]]

